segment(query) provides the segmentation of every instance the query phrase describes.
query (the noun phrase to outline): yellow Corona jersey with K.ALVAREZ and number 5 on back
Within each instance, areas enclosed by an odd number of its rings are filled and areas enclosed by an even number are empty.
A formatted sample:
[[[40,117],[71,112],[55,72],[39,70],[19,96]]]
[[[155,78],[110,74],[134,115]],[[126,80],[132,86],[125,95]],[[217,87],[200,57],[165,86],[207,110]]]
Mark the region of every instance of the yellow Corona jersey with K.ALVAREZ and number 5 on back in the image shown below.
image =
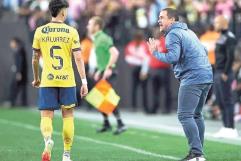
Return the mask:
[[[80,50],[80,41],[75,28],[58,22],[40,26],[35,31],[32,47],[43,58],[40,87],[76,86],[72,53]]]

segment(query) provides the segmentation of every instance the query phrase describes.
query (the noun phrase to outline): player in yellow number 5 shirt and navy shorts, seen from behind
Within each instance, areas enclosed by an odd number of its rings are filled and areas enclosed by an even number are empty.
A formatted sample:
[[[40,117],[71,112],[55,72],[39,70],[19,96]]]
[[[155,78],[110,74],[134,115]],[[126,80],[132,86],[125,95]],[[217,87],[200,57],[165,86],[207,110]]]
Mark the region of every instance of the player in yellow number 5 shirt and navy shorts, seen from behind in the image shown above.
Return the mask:
[[[32,85],[39,88],[40,129],[45,141],[42,161],[51,160],[54,145],[52,119],[54,110],[60,108],[63,116],[63,161],[71,161],[70,150],[74,137],[73,108],[77,102],[72,54],[82,79],[80,95],[84,97],[88,93],[78,32],[64,23],[68,6],[65,0],[51,0],[49,10],[52,20],[37,28],[33,40]],[[38,73],[40,56],[43,58],[41,81]]]

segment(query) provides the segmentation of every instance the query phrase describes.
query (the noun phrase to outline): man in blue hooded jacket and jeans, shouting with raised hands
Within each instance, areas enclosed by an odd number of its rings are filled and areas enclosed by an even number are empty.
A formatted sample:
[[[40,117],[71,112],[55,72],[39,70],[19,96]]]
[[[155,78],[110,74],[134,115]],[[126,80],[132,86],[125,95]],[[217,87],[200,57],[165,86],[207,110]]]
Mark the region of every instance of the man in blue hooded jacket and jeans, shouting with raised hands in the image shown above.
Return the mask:
[[[167,53],[159,53],[152,38],[149,48],[157,59],[173,65],[174,74],[180,81],[177,113],[190,147],[183,161],[205,161],[202,109],[213,83],[207,50],[195,33],[179,22],[175,9],[163,9],[158,22],[160,31],[165,32]]]

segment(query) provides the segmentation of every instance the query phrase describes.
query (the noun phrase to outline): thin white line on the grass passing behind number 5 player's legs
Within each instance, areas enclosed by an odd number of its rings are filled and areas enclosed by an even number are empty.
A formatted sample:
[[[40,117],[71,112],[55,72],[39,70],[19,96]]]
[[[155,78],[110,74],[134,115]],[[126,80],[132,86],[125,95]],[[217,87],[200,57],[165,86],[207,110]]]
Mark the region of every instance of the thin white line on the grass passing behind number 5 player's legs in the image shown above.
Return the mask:
[[[11,124],[13,126],[18,126],[18,127],[22,127],[22,128],[25,128],[25,129],[33,130],[33,131],[40,131],[38,127],[29,125],[29,124],[22,124],[22,123],[18,123],[18,122],[14,122],[14,121],[8,121],[8,120],[4,120],[4,119],[0,119],[0,122],[4,123],[4,124]],[[57,131],[54,131],[54,134],[62,135],[62,133],[57,132]],[[93,143],[96,143],[96,144],[113,146],[113,147],[117,147],[117,148],[120,148],[120,149],[125,149],[125,150],[128,150],[128,151],[132,151],[132,152],[143,154],[143,155],[149,155],[149,156],[156,157],[156,158],[170,159],[170,160],[180,160],[180,158],[177,158],[177,157],[173,157],[173,156],[169,156],[169,155],[160,155],[160,154],[148,152],[148,151],[145,151],[145,150],[142,150],[142,149],[133,148],[133,147],[130,147],[130,146],[127,146],[127,145],[95,140],[95,139],[92,139],[92,138],[89,138],[89,137],[84,137],[84,136],[75,135],[75,139],[79,139],[79,140],[83,140],[83,141],[89,141],[89,142],[93,142]]]

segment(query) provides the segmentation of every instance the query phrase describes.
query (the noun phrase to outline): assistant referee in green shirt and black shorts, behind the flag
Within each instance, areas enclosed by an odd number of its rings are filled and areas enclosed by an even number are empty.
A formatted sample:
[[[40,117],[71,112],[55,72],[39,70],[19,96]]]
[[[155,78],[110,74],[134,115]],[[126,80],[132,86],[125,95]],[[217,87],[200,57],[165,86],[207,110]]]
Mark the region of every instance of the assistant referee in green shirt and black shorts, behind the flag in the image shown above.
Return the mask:
[[[119,51],[114,46],[112,38],[103,32],[103,27],[104,21],[100,17],[92,17],[87,26],[89,34],[93,37],[96,53],[97,72],[94,75],[94,79],[95,81],[107,79],[113,86],[116,80],[116,72],[113,70],[119,56]],[[114,110],[113,114],[117,120],[117,130],[114,132],[117,135],[124,132],[127,127],[120,118],[118,108]],[[104,124],[102,128],[97,130],[100,133],[111,130],[108,116],[104,113],[102,115],[104,117]]]

